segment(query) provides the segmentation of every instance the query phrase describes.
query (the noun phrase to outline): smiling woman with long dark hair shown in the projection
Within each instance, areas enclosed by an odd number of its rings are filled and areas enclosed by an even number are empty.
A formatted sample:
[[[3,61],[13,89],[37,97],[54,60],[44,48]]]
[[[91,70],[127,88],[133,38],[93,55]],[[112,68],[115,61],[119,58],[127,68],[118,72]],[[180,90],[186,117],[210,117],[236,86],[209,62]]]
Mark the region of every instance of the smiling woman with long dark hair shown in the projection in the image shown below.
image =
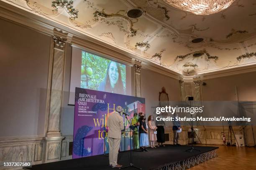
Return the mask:
[[[98,90],[124,94],[121,70],[118,63],[111,61],[104,80],[100,83]]]

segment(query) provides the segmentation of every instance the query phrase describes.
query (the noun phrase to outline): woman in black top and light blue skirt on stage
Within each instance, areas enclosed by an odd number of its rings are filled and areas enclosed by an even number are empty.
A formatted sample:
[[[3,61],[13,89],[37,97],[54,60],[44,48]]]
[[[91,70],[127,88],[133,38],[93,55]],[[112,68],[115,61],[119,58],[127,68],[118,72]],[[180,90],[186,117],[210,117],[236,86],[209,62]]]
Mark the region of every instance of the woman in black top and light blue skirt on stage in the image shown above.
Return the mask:
[[[140,117],[141,122],[140,122],[140,147],[141,147],[141,152],[143,151],[148,151],[146,149],[146,146],[148,146],[148,131],[147,131],[147,126],[146,126],[146,117],[142,116]]]

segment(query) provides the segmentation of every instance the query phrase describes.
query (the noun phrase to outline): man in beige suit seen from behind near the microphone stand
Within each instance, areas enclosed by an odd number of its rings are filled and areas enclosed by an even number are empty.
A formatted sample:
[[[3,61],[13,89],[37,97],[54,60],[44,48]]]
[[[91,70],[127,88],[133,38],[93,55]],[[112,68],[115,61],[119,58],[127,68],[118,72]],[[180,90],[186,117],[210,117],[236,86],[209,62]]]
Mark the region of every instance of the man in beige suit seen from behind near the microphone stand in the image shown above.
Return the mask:
[[[121,130],[124,129],[123,117],[120,115],[123,108],[117,106],[116,111],[108,117],[108,144],[109,144],[109,165],[112,168],[120,168],[122,165],[117,163],[118,150],[121,141]]]

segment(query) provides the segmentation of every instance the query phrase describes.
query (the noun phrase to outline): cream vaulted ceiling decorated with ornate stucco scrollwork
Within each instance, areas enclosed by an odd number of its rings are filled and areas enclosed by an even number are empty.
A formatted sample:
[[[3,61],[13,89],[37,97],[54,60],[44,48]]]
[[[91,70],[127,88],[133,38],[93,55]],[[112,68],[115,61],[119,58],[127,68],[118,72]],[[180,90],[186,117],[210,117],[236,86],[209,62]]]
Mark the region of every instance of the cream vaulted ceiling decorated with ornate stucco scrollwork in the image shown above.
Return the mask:
[[[255,0],[235,0],[212,15],[164,0],[5,1],[184,75],[256,64]],[[129,18],[133,8],[143,15]]]

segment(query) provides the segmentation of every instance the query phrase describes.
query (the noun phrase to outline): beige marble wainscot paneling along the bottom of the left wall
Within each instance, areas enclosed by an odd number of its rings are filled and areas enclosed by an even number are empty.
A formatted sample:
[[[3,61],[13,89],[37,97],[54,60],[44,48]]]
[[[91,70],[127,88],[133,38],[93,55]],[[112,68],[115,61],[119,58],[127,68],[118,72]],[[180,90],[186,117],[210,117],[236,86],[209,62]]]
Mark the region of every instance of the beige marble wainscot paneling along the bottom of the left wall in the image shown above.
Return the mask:
[[[0,170],[5,169],[3,167],[4,162],[30,162],[31,165],[36,165],[72,159],[72,155],[69,154],[69,146],[72,142],[73,136],[55,138],[43,136],[1,137],[0,158],[3,159],[0,159]],[[21,167],[8,168],[16,170]]]

